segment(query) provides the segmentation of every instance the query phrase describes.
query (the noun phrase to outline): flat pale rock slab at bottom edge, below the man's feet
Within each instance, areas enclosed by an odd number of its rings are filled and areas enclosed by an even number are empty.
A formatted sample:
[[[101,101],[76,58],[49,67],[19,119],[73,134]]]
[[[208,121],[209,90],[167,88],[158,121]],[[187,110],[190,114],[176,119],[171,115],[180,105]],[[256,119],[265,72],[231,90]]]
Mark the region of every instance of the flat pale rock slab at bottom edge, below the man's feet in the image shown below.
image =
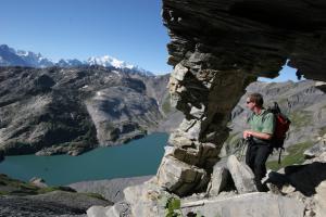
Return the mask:
[[[294,199],[267,194],[249,193],[228,199],[210,199],[181,205],[186,216],[200,213],[205,217],[303,217],[304,206]]]

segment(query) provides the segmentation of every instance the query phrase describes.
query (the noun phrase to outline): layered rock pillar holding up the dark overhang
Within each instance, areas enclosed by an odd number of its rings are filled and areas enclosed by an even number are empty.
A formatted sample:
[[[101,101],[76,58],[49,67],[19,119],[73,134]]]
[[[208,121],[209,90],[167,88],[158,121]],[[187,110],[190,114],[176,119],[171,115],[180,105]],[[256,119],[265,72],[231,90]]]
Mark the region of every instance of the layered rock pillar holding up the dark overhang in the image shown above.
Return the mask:
[[[228,113],[236,104],[236,101],[238,101],[240,94],[242,94],[242,87],[251,78],[229,72],[228,74],[233,74],[233,76],[221,81],[222,77],[225,77],[227,74],[213,71],[197,74],[191,72],[189,67],[187,67],[187,72],[185,68],[185,65],[178,65],[172,73],[168,82],[174,104],[186,116],[179,127],[171,135],[168,142],[174,145],[172,156],[175,159],[175,164],[188,164],[185,167],[192,169],[192,174],[198,174],[198,168],[209,174],[206,169],[210,170],[218,161],[218,153],[222,148],[221,142],[228,135],[228,130],[225,127],[228,122]],[[181,78],[184,80],[179,80]],[[224,95],[223,89],[229,84],[237,84],[236,88],[230,94]],[[186,86],[189,89],[185,88]],[[189,94],[191,91],[193,91],[193,94]],[[217,99],[223,100],[223,104],[216,101]],[[168,178],[166,179],[166,176],[162,176],[170,174],[171,167],[164,166],[165,162],[165,158],[163,158],[158,171],[160,183],[173,183],[170,187],[165,184],[165,187],[179,195],[196,191],[193,184],[185,182],[181,173],[174,174],[174,181],[172,182],[168,181]],[[189,174],[190,170],[188,170]],[[178,188],[175,188],[175,183],[178,183]],[[183,189],[183,193],[177,189]]]

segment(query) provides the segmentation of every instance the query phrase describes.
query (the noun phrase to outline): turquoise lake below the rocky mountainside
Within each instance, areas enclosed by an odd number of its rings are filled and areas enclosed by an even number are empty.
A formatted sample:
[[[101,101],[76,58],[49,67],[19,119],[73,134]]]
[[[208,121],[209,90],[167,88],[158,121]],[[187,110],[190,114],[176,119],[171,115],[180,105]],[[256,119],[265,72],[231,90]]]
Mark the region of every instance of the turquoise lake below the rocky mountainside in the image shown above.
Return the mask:
[[[127,144],[98,148],[79,156],[7,156],[0,163],[0,174],[24,181],[40,177],[50,186],[154,175],[167,138],[167,133],[152,133]]]

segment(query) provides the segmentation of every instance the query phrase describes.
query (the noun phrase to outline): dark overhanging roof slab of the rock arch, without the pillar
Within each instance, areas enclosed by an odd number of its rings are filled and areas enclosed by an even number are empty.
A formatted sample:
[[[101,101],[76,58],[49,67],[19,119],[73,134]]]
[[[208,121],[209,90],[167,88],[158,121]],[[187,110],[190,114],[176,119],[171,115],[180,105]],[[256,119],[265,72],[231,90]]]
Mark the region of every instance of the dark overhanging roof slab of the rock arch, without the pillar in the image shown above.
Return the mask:
[[[168,63],[273,78],[290,59],[305,78],[326,80],[325,14],[323,0],[163,0]]]

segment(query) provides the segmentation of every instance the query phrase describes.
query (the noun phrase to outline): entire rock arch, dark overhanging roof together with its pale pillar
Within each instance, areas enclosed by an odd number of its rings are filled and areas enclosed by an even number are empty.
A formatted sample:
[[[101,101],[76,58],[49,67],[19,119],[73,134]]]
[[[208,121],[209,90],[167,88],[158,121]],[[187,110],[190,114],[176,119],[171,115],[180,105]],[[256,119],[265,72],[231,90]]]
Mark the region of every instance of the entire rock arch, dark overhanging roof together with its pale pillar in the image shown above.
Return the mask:
[[[325,14],[322,0],[163,0],[168,88],[186,118],[170,138],[161,186],[179,195],[205,188],[230,112],[258,77],[278,76],[289,59],[298,77],[326,81]]]

